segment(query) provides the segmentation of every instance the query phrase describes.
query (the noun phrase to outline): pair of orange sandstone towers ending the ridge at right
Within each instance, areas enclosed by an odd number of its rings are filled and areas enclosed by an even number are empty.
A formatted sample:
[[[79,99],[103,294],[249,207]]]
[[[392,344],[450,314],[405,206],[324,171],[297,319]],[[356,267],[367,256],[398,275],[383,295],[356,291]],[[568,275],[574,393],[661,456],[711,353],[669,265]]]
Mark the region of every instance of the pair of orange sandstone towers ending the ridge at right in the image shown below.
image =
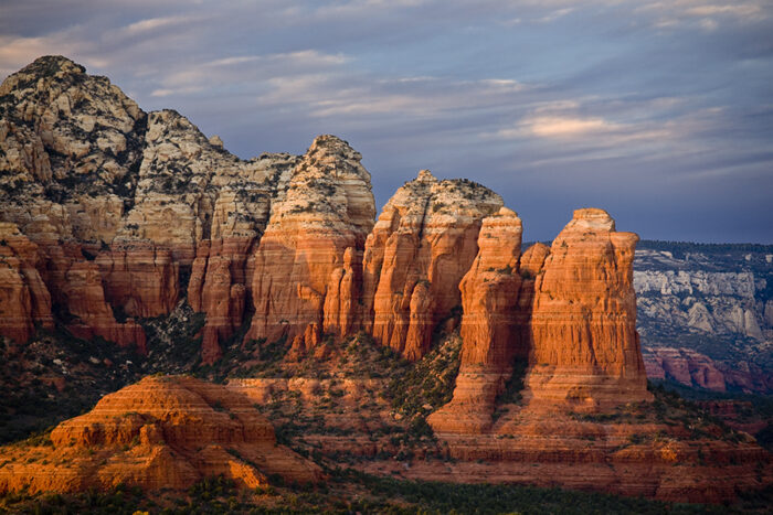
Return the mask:
[[[428,418],[438,433],[507,433],[501,421],[493,428],[493,414],[506,382],[518,386],[513,358],[528,364],[520,393],[528,409],[652,399],[635,329],[637,236],[615,232],[595,208],[575,211],[551,248],[536,244],[521,257],[520,234],[511,212],[484,219],[480,251],[460,286],[464,345],[454,397]]]

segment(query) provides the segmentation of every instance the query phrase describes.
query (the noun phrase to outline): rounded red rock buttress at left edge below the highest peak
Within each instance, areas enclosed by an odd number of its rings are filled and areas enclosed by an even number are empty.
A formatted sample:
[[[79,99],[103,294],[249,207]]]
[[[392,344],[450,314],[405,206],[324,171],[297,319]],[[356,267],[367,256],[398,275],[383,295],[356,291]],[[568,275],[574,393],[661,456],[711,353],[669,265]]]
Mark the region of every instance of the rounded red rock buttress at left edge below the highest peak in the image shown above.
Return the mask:
[[[0,223],[0,336],[27,342],[34,324],[53,328],[51,296],[38,273],[38,246],[15,224]]]

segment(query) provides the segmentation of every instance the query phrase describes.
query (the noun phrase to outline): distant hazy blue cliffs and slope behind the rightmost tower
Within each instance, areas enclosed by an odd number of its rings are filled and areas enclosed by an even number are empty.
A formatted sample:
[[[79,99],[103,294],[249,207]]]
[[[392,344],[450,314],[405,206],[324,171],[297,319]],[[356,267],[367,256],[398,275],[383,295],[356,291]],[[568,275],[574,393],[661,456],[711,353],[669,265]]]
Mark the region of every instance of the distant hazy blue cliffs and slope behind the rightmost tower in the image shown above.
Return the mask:
[[[713,382],[693,382],[666,373],[669,378],[711,389],[724,383],[750,393],[773,391],[772,285],[767,246],[645,242],[636,250],[634,287],[642,347],[652,352],[645,354],[648,372],[659,374],[653,355],[679,366],[680,358],[669,354],[678,348],[706,356],[712,363],[707,366],[724,379],[712,373]]]

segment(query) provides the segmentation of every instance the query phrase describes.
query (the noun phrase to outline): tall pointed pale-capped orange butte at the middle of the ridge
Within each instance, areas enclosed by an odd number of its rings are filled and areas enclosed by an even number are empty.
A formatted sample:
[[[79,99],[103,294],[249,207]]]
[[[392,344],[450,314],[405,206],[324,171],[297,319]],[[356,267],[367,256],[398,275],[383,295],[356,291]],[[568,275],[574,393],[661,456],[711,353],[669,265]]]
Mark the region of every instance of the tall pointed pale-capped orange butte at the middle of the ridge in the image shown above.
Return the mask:
[[[360,159],[345,141],[320,136],[293,170],[255,254],[248,339],[287,336],[303,352],[322,331],[351,328],[356,269],[375,216]]]

